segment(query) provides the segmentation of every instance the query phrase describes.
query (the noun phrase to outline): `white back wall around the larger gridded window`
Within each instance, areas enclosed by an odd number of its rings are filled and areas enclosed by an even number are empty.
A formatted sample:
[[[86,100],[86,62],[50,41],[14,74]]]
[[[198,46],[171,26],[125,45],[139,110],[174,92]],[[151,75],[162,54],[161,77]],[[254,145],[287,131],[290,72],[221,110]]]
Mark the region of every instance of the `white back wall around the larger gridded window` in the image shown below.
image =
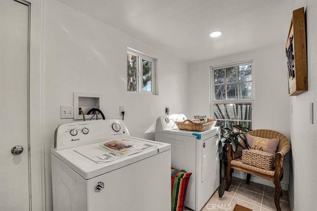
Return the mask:
[[[286,34],[286,33],[285,33]],[[253,83],[253,129],[272,129],[290,137],[289,96],[285,44],[275,44],[261,49],[228,55],[189,65],[190,70],[190,113],[208,115],[210,113],[210,66],[254,58]],[[282,188],[287,190],[289,154],[284,161]],[[237,175],[238,176],[238,175]],[[251,181],[274,186],[272,182],[254,176]]]

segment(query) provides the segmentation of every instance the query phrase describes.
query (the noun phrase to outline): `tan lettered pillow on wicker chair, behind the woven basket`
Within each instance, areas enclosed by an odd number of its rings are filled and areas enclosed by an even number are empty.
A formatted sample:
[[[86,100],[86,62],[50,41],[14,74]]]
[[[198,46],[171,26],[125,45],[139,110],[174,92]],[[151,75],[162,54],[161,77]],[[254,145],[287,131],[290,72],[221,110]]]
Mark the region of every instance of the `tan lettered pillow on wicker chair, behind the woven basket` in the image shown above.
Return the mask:
[[[279,143],[279,138],[262,138],[247,133],[247,140],[252,149],[275,154]]]

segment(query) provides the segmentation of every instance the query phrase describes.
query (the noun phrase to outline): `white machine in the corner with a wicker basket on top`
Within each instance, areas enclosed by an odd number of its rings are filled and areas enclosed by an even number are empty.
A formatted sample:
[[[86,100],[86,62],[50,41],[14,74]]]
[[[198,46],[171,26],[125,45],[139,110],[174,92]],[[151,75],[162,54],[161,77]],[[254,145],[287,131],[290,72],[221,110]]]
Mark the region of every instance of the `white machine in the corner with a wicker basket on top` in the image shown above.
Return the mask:
[[[186,119],[184,114],[160,116],[155,140],[171,144],[172,168],[192,172],[185,206],[200,211],[219,186],[217,127],[202,132],[178,129],[175,121]]]

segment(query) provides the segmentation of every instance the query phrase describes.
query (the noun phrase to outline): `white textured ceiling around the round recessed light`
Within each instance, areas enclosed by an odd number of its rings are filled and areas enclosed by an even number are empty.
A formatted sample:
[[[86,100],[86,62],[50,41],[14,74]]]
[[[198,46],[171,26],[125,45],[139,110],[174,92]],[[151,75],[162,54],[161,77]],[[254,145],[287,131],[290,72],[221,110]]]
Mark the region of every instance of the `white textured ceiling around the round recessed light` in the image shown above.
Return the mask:
[[[193,63],[286,42],[296,0],[58,1]]]

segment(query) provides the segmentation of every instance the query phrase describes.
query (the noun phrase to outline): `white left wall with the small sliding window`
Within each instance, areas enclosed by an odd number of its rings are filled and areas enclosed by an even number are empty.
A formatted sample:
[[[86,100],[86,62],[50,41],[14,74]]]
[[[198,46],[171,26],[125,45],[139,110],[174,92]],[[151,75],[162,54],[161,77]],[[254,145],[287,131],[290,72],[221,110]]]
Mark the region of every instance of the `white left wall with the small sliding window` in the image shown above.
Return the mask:
[[[44,143],[46,208],[52,210],[50,148],[54,129],[72,119],[60,119],[60,106],[73,105],[73,92],[103,94],[106,119],[118,119],[125,106],[125,123],[133,136],[145,133],[164,114],[187,113],[188,65],[152,45],[128,36],[55,0],[45,3]],[[158,59],[159,95],[126,91],[127,47]],[[150,129],[151,130],[151,129]]]

